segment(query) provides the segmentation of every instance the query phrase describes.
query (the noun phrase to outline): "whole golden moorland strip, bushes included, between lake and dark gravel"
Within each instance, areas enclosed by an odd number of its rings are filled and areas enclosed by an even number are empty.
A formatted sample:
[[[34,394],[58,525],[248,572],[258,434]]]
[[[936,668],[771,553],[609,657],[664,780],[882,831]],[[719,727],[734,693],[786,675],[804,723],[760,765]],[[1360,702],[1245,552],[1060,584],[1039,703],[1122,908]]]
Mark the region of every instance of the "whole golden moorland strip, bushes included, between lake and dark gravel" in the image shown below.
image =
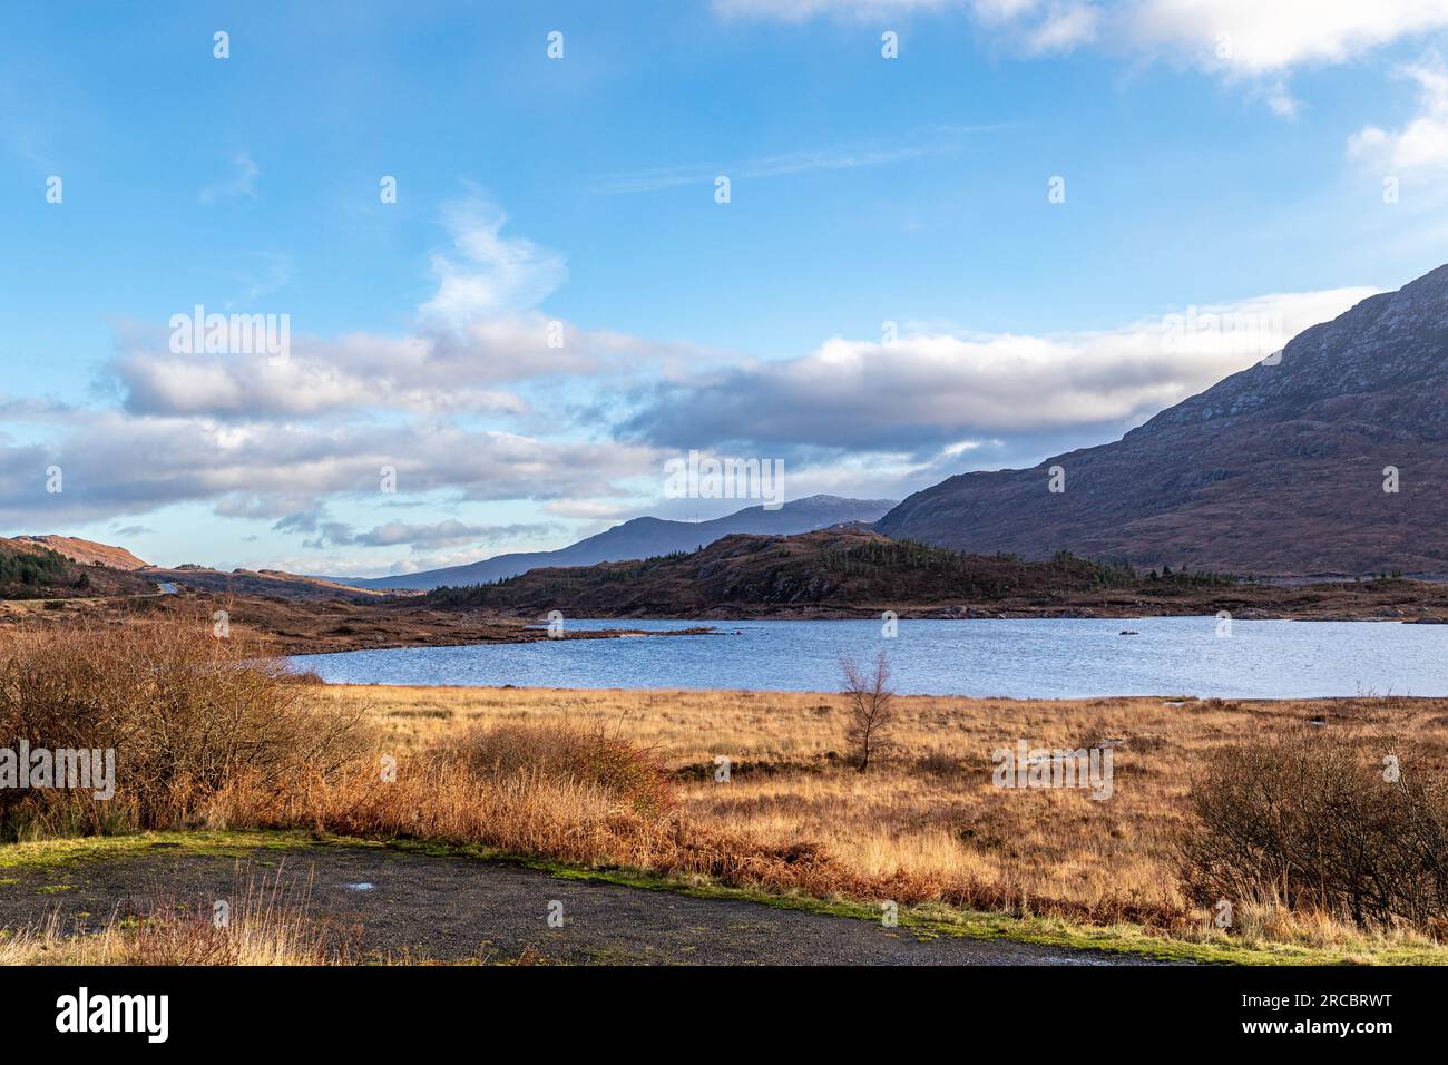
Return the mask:
[[[0,839],[304,830],[1012,935],[1448,962],[1448,700],[891,710],[860,772],[844,693],[327,685],[206,617],[14,626],[0,732],[114,749],[116,778],[0,788]],[[1109,794],[999,787],[1018,745],[1109,752]]]

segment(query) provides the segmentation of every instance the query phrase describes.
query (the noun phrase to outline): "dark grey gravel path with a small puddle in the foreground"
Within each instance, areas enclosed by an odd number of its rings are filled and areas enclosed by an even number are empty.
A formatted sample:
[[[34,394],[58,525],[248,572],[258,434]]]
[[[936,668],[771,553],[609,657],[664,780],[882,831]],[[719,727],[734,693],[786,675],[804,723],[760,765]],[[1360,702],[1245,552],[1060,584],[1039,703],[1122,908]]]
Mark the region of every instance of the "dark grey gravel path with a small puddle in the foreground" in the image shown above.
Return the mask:
[[[708,965],[1119,965],[1099,952],[941,936],[760,903],[691,898],[469,858],[381,848],[256,849],[246,858],[164,851],[59,868],[0,869],[0,927],[103,924],[155,900],[210,909],[248,881],[307,890],[359,956]],[[363,887],[366,885],[366,887]],[[560,907],[560,909],[559,909]],[[549,914],[560,913],[552,927]]]

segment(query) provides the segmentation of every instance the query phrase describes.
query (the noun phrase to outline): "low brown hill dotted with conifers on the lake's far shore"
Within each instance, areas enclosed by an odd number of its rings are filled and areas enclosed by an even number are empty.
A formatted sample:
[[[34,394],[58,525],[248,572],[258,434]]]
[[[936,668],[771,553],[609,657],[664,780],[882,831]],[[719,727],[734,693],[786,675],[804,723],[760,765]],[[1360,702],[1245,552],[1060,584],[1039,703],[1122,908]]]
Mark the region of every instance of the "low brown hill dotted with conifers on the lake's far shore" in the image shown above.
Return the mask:
[[[465,619],[569,617],[1383,617],[1448,620],[1448,584],[1384,578],[1286,587],[1221,574],[1142,574],[1060,554],[967,555],[834,526],[725,536],[686,555],[530,569],[501,584],[384,600]],[[1212,622],[1215,625],[1215,622]],[[566,626],[566,620],[565,620]],[[1131,635],[1124,633],[1124,635]]]

